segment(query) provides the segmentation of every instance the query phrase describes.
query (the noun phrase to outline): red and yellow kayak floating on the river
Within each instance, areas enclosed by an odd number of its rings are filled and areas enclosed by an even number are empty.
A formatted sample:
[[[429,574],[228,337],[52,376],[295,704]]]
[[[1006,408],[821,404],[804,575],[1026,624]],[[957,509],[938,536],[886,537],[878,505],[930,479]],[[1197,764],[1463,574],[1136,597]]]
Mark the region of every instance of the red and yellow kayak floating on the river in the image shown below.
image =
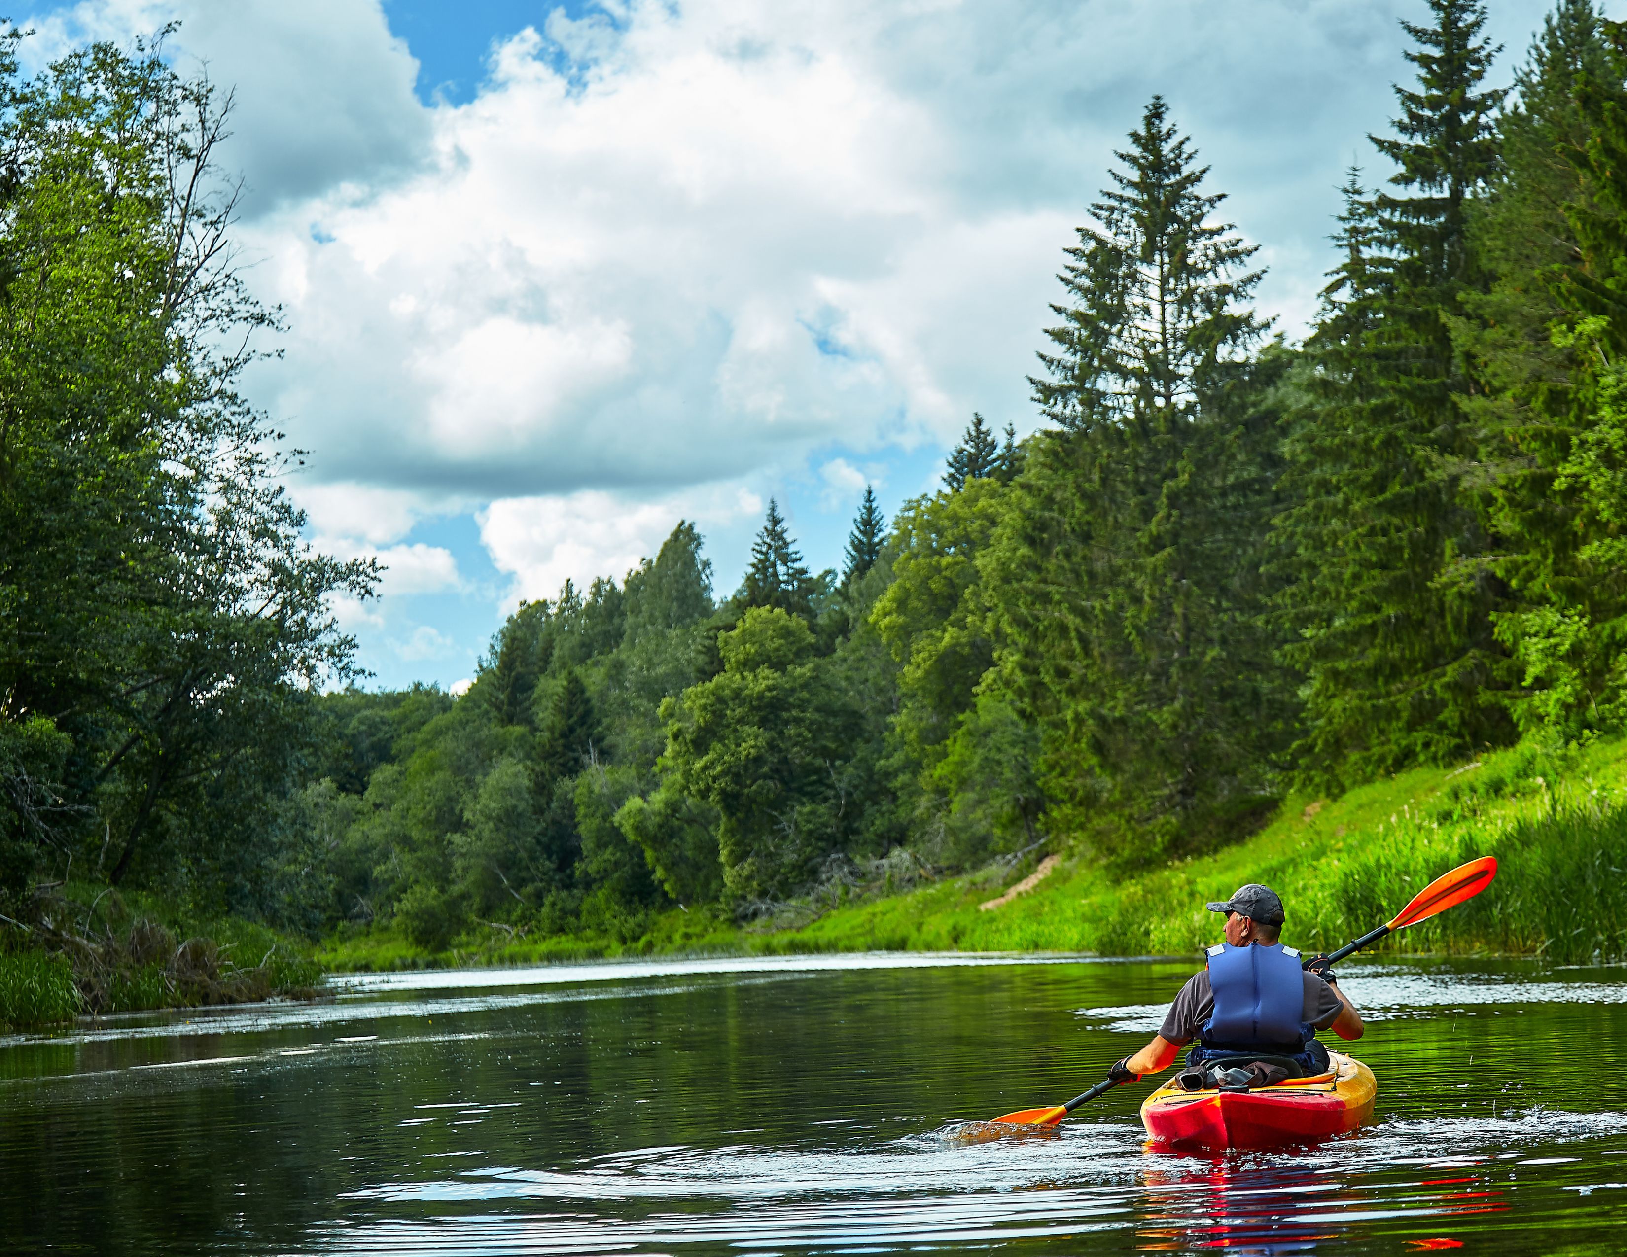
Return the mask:
[[[1328,1073],[1250,1091],[1183,1091],[1170,1083],[1147,1096],[1141,1122],[1158,1143],[1201,1148],[1279,1148],[1342,1135],[1372,1120],[1378,1081],[1360,1060],[1329,1055]]]

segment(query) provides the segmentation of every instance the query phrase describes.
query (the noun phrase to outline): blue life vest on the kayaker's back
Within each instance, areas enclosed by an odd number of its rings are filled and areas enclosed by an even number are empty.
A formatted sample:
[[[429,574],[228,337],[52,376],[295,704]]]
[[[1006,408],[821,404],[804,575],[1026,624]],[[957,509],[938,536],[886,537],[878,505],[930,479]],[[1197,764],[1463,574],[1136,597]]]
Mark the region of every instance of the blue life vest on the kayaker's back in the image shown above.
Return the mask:
[[[1300,953],[1272,943],[1209,948],[1209,989],[1215,1005],[1199,1042],[1222,1052],[1295,1055],[1315,1037],[1305,1016]]]

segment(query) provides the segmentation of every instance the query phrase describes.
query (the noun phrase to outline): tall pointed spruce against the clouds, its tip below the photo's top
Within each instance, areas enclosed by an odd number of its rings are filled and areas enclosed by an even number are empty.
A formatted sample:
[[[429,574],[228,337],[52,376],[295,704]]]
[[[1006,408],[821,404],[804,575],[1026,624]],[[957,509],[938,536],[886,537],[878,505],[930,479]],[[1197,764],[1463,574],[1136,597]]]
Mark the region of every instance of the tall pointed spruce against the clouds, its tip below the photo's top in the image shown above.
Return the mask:
[[[1248,358],[1254,249],[1215,221],[1160,98],[1118,158],[1032,379],[1061,431],[1030,442],[978,563],[1058,820],[1152,859],[1271,789],[1289,699],[1259,621],[1276,424]]]

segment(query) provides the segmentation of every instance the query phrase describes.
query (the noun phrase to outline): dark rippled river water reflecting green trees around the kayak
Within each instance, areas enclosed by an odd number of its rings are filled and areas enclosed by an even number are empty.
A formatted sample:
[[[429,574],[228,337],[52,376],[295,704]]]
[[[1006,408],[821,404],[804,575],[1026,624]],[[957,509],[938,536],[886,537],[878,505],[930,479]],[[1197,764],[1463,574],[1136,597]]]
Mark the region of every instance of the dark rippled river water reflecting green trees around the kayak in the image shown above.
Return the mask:
[[[392,974],[0,1039],[0,1249],[164,1254],[1617,1254],[1627,971],[1341,964],[1376,1122],[1056,1137],[1191,963],[869,955]]]

